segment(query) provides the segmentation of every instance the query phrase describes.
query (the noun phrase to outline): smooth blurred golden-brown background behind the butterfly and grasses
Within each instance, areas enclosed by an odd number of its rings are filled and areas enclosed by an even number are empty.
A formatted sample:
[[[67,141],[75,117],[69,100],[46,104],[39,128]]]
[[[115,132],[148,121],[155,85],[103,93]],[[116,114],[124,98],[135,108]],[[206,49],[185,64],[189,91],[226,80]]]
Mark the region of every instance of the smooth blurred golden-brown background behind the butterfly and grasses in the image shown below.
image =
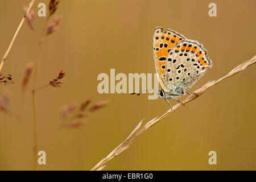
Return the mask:
[[[32,10],[38,11],[36,1]],[[209,17],[209,3],[217,17]],[[3,55],[29,0],[0,2]],[[38,170],[88,170],[126,139],[135,126],[159,117],[169,106],[146,95],[99,94],[99,73],[155,73],[152,33],[168,27],[204,44],[213,68],[192,90],[220,78],[255,55],[256,2],[251,1],[61,1],[59,30],[42,45],[36,85],[44,85],[60,69],[68,72],[61,88],[36,93],[38,150],[46,151],[47,165]],[[47,11],[48,13],[48,11]],[[52,20],[52,19],[51,19]],[[50,20],[50,21],[51,21]],[[11,93],[11,109],[18,112],[24,68],[35,61],[44,17],[35,17],[35,32],[26,22],[14,43],[2,73],[16,84],[0,85]],[[108,170],[255,170],[255,65],[220,82],[146,131],[131,147],[110,160]],[[79,103],[109,100],[90,115],[84,126],[56,130],[59,109]],[[182,100],[180,98],[180,100]],[[176,102],[171,101],[172,104]],[[31,93],[23,101],[22,122],[0,113],[0,169],[32,169]],[[217,165],[208,164],[208,152],[217,152]]]

